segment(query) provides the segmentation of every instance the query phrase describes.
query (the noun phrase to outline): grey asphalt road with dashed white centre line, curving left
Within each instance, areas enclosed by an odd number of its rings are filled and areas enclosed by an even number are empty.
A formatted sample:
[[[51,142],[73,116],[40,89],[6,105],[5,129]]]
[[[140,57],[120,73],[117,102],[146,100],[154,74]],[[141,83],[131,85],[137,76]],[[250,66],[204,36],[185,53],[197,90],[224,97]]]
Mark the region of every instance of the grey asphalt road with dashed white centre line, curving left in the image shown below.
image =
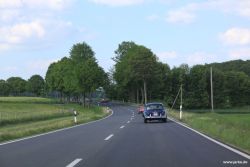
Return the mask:
[[[173,121],[144,124],[135,107],[112,110],[101,121],[1,145],[0,167],[250,166],[249,159]]]

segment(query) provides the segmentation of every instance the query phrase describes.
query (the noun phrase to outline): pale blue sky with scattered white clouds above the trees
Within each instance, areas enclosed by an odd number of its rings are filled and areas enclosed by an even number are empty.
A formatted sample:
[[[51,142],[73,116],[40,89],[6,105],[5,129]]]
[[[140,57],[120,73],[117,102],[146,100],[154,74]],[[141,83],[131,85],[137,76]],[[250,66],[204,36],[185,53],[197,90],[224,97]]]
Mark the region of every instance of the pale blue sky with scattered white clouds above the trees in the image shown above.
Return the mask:
[[[0,79],[34,74],[86,42],[105,71],[123,41],[171,68],[250,59],[250,0],[0,0]]]

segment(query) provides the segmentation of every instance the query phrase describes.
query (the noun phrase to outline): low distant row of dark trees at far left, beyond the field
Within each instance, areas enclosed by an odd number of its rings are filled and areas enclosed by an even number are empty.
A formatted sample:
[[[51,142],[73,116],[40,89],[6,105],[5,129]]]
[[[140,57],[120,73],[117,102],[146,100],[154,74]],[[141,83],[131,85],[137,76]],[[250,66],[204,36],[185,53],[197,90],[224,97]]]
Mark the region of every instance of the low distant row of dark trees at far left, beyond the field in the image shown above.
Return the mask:
[[[40,75],[33,75],[27,81],[20,77],[0,80],[0,96],[41,96],[45,94],[45,81]]]

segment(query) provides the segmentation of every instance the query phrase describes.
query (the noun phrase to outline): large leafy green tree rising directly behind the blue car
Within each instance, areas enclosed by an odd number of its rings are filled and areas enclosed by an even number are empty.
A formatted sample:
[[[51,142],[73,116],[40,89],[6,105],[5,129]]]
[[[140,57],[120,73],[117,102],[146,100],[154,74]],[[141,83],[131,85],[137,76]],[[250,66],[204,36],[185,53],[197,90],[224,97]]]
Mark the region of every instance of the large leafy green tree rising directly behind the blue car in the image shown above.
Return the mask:
[[[115,52],[114,79],[123,98],[139,101],[139,91],[147,103],[149,83],[155,82],[157,58],[152,51],[132,42],[123,42]]]

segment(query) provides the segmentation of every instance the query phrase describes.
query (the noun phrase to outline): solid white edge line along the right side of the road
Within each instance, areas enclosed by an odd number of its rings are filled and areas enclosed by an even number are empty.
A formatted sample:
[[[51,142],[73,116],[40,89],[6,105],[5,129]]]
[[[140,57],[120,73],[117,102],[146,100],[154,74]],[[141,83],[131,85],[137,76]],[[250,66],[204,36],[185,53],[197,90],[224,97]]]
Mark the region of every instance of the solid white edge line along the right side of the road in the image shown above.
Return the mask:
[[[218,145],[220,145],[220,146],[222,146],[222,147],[224,147],[224,148],[226,148],[226,149],[228,149],[228,150],[230,150],[230,151],[233,151],[234,153],[237,153],[237,154],[239,154],[239,155],[241,155],[241,156],[243,156],[243,157],[245,157],[245,158],[247,158],[247,159],[250,159],[250,156],[249,156],[249,155],[247,155],[247,154],[245,154],[245,153],[243,153],[243,152],[241,152],[241,151],[239,151],[239,150],[236,150],[236,149],[234,149],[234,148],[232,148],[232,147],[230,147],[230,146],[228,146],[228,145],[226,145],[226,144],[223,144],[223,143],[221,143],[221,142],[219,142],[219,141],[217,141],[217,140],[215,140],[215,139],[213,139],[213,138],[211,138],[211,137],[209,137],[209,136],[207,136],[207,135],[205,135],[205,134],[203,134],[203,133],[201,133],[201,132],[199,132],[199,131],[197,131],[197,130],[194,130],[194,129],[190,128],[189,126],[187,126],[187,125],[185,125],[185,124],[183,124],[183,123],[181,123],[181,122],[179,122],[179,121],[176,121],[176,120],[173,119],[173,118],[169,118],[169,117],[168,117],[168,119],[170,119],[171,121],[176,122],[177,124],[179,124],[179,125],[181,125],[181,126],[187,128],[187,129],[189,129],[189,130],[191,130],[191,131],[193,131],[193,132],[195,132],[195,133],[201,135],[202,137],[205,137],[206,139],[208,139],[208,140],[210,140],[210,141],[212,141],[212,142],[214,142],[214,143],[216,143],[216,144],[218,144]]]

